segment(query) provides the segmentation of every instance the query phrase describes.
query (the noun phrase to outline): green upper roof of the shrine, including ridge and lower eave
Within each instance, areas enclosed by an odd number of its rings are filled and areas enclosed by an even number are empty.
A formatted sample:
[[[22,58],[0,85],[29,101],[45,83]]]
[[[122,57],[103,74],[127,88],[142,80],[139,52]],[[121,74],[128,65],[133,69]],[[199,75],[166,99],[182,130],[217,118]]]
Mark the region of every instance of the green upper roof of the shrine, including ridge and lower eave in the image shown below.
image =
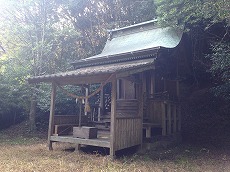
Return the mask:
[[[116,60],[129,60],[137,54],[157,50],[160,47],[174,48],[182,37],[182,31],[172,28],[155,26],[156,20],[109,31],[109,39],[101,54],[82,59],[73,63],[75,68],[82,65],[98,65],[100,61],[114,63]]]

